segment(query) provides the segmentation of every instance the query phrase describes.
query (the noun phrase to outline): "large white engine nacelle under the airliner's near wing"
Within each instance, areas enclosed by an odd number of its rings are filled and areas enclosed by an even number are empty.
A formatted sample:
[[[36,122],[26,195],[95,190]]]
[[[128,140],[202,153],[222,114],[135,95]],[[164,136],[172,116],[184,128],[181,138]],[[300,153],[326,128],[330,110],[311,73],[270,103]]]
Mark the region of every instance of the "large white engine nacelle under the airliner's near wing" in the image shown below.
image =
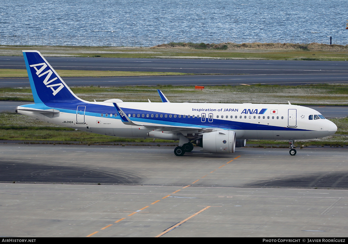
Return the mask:
[[[198,146],[209,153],[234,153],[236,148],[236,132],[231,130],[219,130],[203,134]]]

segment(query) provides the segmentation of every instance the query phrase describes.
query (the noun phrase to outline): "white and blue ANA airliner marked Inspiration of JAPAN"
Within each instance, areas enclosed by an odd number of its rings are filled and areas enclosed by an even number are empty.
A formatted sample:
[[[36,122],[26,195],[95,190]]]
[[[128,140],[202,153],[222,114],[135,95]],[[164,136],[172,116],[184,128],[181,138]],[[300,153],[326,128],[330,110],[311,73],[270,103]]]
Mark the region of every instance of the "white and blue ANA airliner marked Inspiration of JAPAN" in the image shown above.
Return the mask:
[[[133,103],[78,98],[38,51],[23,51],[35,104],[16,112],[66,127],[118,137],[179,140],[177,156],[193,144],[210,153],[234,153],[247,139],[288,140],[333,135],[337,126],[318,111],[288,104]]]

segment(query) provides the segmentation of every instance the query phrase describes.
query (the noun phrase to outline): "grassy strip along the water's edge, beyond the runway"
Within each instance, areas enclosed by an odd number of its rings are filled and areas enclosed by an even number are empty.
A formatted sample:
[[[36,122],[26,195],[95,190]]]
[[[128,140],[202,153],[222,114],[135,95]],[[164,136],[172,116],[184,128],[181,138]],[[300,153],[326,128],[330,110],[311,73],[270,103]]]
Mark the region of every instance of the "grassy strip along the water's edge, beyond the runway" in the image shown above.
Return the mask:
[[[348,45],[322,43],[167,43],[154,47],[0,46],[0,56],[42,55],[112,58],[208,58],[268,60],[347,60]],[[97,62],[97,59],[96,59]]]

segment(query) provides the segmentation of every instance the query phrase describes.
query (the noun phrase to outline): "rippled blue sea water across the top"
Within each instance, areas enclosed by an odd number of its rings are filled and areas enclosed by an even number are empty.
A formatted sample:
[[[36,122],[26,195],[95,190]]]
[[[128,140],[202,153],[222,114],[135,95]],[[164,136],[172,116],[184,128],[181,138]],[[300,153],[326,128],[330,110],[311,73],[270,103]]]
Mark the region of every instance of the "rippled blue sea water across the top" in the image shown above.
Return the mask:
[[[0,44],[347,44],[347,0],[2,0]]]

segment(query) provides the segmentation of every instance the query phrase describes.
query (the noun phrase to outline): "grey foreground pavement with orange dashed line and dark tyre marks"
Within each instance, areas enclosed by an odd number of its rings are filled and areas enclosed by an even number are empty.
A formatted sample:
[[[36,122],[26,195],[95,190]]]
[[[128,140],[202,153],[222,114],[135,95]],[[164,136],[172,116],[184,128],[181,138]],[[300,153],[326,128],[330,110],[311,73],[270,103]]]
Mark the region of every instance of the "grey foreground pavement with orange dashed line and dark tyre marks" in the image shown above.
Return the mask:
[[[173,150],[2,144],[0,235],[347,235],[347,149]]]

